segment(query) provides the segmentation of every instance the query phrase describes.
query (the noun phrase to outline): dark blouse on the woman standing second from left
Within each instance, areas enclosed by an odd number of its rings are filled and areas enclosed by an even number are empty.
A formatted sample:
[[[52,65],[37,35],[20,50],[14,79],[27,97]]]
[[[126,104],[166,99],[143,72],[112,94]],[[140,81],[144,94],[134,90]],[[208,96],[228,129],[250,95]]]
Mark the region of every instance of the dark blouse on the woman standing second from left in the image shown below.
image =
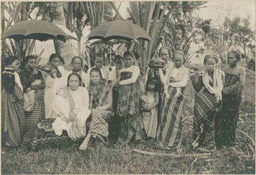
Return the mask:
[[[36,75],[32,75],[32,71],[30,69],[25,69],[20,71],[19,73],[20,82],[23,85],[24,91],[26,91],[27,88],[31,88],[33,90],[39,90],[39,89],[45,89],[45,81],[42,78],[42,74],[40,71]],[[34,85],[31,86],[31,83],[33,83],[35,80],[41,80],[42,83],[40,85]]]

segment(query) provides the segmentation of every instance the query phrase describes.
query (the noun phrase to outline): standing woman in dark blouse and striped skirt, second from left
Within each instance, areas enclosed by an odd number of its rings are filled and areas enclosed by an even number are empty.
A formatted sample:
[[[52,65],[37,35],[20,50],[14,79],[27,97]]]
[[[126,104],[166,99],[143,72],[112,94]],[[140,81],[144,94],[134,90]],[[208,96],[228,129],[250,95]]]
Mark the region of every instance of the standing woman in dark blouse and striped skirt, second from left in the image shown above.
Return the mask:
[[[25,111],[26,128],[24,134],[24,143],[30,142],[33,137],[37,123],[45,118],[45,81],[42,74],[36,67],[36,57],[27,56],[25,58],[26,68],[20,71],[20,81],[22,82],[24,92],[34,91],[31,111]],[[37,82],[34,85],[34,82]]]

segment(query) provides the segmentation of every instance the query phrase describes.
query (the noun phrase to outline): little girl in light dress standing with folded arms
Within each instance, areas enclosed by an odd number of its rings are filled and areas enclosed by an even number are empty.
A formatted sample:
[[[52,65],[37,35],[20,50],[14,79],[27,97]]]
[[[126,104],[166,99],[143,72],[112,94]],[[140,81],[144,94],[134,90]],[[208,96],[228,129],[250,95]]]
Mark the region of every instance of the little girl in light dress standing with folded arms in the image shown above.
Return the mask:
[[[142,95],[142,119],[147,137],[156,138],[157,132],[157,105],[159,92],[157,79],[151,78],[146,83],[146,93]]]

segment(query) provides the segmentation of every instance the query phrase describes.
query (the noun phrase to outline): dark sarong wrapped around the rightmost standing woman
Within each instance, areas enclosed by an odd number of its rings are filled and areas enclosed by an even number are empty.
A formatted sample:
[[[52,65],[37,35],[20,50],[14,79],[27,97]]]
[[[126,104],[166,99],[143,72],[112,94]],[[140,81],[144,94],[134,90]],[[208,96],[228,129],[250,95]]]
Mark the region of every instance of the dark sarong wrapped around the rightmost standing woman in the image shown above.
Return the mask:
[[[232,146],[236,140],[236,130],[241,104],[243,86],[235,74],[226,73],[222,95],[223,105],[221,115],[216,117],[216,143],[218,146]]]

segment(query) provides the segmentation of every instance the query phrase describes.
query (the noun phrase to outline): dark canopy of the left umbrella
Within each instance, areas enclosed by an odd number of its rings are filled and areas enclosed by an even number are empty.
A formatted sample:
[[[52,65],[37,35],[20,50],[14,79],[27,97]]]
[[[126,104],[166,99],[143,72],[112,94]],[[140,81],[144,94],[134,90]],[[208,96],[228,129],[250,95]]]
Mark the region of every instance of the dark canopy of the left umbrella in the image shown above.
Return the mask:
[[[69,36],[51,22],[31,19],[15,23],[2,34],[2,39],[5,38],[12,38],[16,41],[23,39],[36,39],[40,41],[57,39],[65,42]]]

